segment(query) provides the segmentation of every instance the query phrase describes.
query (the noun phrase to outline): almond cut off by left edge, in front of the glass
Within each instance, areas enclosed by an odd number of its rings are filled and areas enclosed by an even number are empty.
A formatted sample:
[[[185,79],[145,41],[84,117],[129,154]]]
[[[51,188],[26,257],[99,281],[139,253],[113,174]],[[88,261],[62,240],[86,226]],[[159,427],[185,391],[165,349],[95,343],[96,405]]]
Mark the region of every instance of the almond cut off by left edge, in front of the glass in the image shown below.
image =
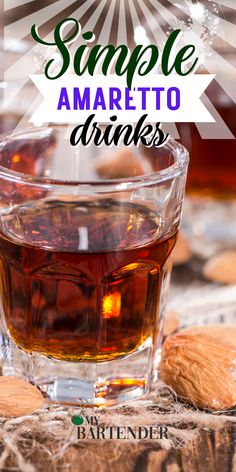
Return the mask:
[[[0,416],[24,416],[44,403],[42,393],[25,380],[0,377]]]

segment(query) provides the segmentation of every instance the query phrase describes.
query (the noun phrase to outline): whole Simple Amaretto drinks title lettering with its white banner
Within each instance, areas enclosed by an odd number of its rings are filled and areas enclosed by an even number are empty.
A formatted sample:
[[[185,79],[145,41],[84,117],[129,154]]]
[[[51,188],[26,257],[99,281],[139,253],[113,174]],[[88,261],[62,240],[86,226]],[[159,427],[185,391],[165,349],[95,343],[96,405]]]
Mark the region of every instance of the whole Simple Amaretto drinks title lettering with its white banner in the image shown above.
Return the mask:
[[[35,24],[31,35],[49,60],[43,74],[30,74],[44,98],[30,121],[79,123],[71,146],[161,147],[169,139],[161,122],[215,121],[201,101],[214,75],[194,73],[198,52],[192,42],[182,45],[180,29],[164,45],[136,44],[132,50],[125,44],[95,44],[96,35],[83,31],[73,17],[59,21],[53,42]]]

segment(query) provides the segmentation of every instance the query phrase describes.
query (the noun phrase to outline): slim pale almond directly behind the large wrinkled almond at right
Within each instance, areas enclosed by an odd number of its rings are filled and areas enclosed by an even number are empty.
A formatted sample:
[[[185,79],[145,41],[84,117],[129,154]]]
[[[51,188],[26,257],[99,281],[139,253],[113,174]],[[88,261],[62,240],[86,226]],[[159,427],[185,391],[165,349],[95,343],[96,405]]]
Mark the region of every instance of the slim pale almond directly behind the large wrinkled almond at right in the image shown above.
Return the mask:
[[[208,334],[212,338],[218,339],[221,343],[229,344],[236,349],[236,325],[218,323],[213,325],[190,326],[180,332],[189,334]]]

